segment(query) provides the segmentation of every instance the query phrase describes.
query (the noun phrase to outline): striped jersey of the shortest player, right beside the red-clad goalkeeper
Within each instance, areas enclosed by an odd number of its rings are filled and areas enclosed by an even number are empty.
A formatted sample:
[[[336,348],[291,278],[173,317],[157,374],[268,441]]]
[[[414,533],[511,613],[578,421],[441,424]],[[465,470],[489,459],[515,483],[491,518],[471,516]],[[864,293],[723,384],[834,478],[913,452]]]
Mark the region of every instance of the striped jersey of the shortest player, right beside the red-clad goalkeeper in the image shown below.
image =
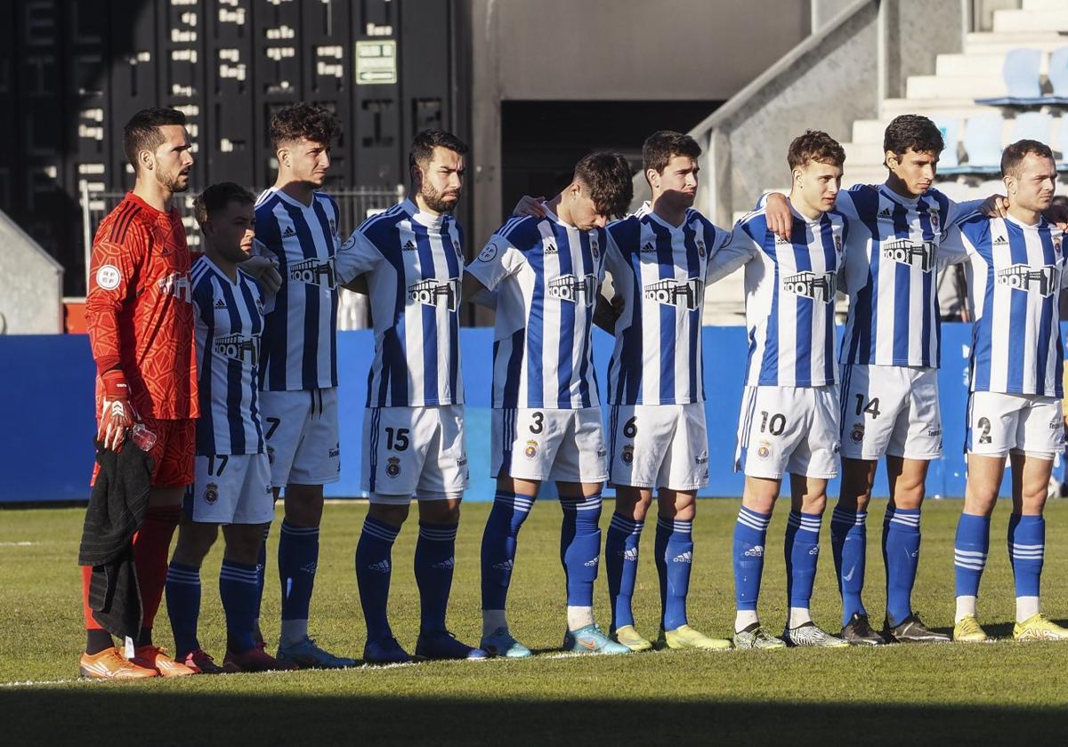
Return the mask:
[[[262,454],[257,402],[264,299],[251,275],[237,282],[202,256],[192,268],[200,418],[197,454]]]

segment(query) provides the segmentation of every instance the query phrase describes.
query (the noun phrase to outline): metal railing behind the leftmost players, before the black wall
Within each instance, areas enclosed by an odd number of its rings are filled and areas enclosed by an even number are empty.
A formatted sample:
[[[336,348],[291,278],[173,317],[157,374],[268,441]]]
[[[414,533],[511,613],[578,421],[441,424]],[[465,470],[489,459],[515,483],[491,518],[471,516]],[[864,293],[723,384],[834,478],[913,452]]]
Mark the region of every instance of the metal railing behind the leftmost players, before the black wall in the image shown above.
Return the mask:
[[[250,190],[256,194],[255,190]],[[405,197],[404,185],[396,187],[345,187],[343,189],[328,190],[331,197],[337,203],[341,212],[339,217],[337,231],[345,240],[348,235],[356,229],[368,217],[376,212],[388,209]],[[89,288],[89,261],[93,248],[93,236],[96,227],[114,207],[126,196],[125,192],[117,191],[90,191],[85,181],[81,184],[81,219],[82,219],[82,241],[85,251],[85,288]],[[195,251],[201,245],[200,231],[197,228],[197,221],[193,220],[193,198],[195,194],[175,195],[174,206],[182,214],[182,223],[186,227],[186,241],[189,249]]]

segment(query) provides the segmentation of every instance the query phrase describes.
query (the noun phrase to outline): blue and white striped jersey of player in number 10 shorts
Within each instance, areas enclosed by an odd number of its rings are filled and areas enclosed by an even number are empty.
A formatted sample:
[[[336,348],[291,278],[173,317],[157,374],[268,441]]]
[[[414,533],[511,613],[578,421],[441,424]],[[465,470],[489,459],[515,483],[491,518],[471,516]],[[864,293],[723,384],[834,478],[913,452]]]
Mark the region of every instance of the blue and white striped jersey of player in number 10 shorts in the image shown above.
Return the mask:
[[[750,386],[826,386],[837,382],[834,293],[849,228],[836,210],[808,220],[794,212],[791,241],[768,229],[763,208],[738,221],[712,255],[708,282],[745,265]],[[847,263],[848,264],[848,263]]]

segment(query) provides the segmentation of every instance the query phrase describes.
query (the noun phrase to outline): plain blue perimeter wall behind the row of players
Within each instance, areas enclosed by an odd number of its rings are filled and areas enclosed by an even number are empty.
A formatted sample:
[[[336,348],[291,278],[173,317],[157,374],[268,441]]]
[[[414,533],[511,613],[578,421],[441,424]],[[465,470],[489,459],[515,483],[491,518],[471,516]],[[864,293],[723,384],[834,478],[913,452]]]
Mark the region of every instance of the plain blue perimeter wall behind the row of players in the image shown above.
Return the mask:
[[[1068,329],[1068,324],[1064,325]],[[1063,329],[1062,332],[1065,330]],[[841,329],[839,329],[841,333]],[[492,500],[489,477],[489,424],[492,330],[460,331],[464,388],[467,395],[467,446],[471,468],[468,500]],[[929,496],[958,497],[964,492],[964,412],[968,400],[968,359],[960,353],[971,344],[971,325],[942,325],[945,353],[939,382],[944,424],[945,457],[931,462]],[[374,340],[370,330],[339,335],[339,368],[348,371],[340,395],[341,481],[327,486],[328,497],[360,495],[360,451],[366,365]],[[732,470],[735,431],[742,397],[747,343],[740,327],[704,330],[706,355],[705,406],[709,436],[709,484],[701,495],[738,497],[742,476]],[[594,364],[604,392],[611,338],[595,330]],[[728,362],[722,365],[721,362]],[[26,428],[0,430],[0,503],[85,500],[93,466],[93,361],[84,335],[0,336],[0,388],[6,393],[7,423]],[[1007,495],[1009,486],[1002,486]],[[837,481],[829,495],[837,495]],[[880,467],[875,494],[886,496]]]

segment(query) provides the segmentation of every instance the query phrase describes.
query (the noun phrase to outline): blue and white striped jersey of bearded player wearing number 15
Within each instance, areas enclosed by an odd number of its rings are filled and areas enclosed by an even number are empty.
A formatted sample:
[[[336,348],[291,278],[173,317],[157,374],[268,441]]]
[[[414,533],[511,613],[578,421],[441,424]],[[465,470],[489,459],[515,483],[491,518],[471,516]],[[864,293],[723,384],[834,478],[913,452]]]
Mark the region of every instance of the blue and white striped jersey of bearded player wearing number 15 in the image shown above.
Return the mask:
[[[337,279],[366,273],[375,324],[367,407],[462,404],[464,234],[409,200],[368,218],[337,252]]]

